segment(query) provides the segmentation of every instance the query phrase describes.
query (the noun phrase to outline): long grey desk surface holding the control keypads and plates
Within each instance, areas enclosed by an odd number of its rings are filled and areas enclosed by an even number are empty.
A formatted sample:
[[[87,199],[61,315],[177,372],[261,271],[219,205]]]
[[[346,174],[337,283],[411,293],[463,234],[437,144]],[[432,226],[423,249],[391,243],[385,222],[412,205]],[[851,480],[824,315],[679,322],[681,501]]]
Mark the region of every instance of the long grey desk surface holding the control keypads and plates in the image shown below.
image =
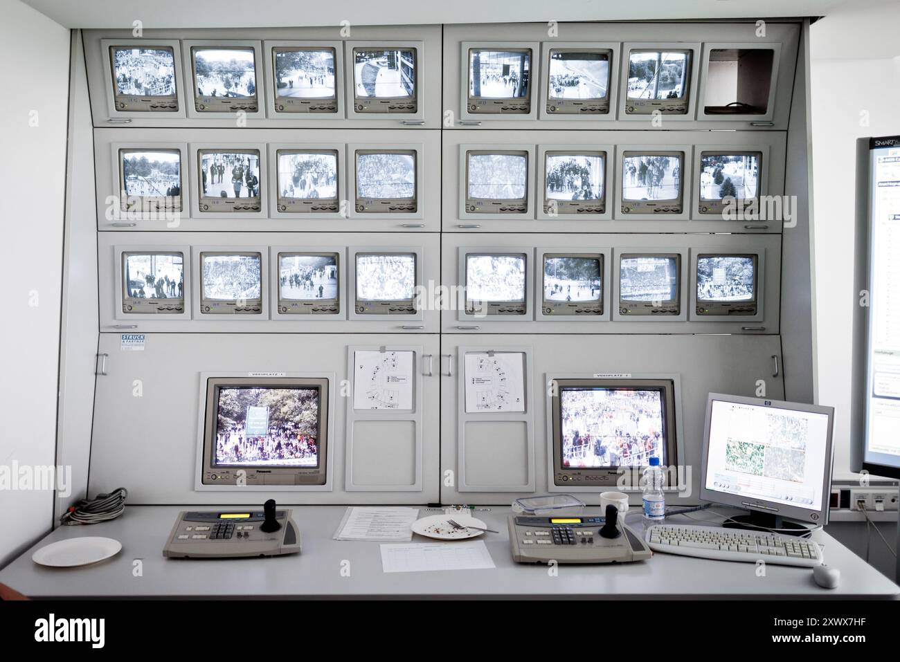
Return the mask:
[[[186,507],[186,506],[185,506]],[[229,506],[229,509],[233,506]],[[162,548],[184,508],[173,505],[129,506],[118,520],[91,526],[63,526],[51,532],[0,571],[0,582],[31,597],[867,597],[896,598],[893,582],[871,568],[823,531],[825,562],[841,569],[841,586],[825,590],[813,583],[807,568],[770,565],[765,576],[752,563],[655,554],[637,563],[560,566],[552,576],[546,566],[514,563],[509,554],[509,507],[478,512],[492,529],[485,533],[496,569],[391,573],[382,572],[378,542],[335,541],[332,535],[344,505],[291,506],[302,534],[302,554],[268,559],[166,559]],[[195,506],[196,510],[205,507]],[[210,508],[212,510],[212,508]],[[424,508],[419,515],[437,514]],[[589,514],[599,514],[589,508]],[[711,518],[708,513],[695,516]],[[678,516],[671,523],[694,523]],[[643,533],[640,514],[626,522]],[[108,536],[121,552],[85,568],[44,568],[31,553],[49,542],[75,536]],[[413,536],[414,542],[428,539]],[[447,542],[446,544],[454,544]],[[140,559],[142,574],[134,574]],[[343,572],[342,572],[343,570]],[[345,575],[349,576],[345,576]]]

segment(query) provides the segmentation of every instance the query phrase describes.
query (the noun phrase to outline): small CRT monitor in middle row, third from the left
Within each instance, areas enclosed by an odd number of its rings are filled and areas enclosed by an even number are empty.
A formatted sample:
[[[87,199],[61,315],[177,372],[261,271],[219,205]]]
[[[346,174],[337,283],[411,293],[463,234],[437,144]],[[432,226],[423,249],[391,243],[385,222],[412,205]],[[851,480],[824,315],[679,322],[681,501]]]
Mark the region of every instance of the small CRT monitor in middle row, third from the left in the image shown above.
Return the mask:
[[[334,213],[338,201],[338,152],[334,149],[278,149],[278,210]]]

